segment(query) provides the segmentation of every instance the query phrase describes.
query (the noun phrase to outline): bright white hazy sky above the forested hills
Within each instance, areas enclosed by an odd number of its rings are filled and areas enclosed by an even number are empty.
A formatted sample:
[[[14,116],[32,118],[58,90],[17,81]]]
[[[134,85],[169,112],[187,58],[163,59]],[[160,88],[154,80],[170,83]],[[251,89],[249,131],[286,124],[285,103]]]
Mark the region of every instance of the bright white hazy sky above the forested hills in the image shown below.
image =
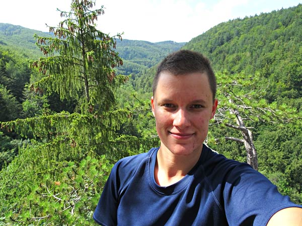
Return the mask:
[[[0,23],[48,32],[71,0],[0,0]],[[189,42],[215,25],[297,6],[302,0],[96,0],[98,30],[123,39]]]

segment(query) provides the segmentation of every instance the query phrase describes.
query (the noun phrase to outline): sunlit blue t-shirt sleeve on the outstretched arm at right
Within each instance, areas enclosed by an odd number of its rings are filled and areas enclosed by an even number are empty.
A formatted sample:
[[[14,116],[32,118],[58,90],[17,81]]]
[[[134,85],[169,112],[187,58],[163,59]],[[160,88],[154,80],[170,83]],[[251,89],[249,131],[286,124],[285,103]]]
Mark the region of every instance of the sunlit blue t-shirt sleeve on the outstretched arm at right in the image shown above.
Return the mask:
[[[246,164],[238,165],[228,175],[223,198],[230,225],[266,225],[277,211],[302,207],[281,195],[264,175]]]

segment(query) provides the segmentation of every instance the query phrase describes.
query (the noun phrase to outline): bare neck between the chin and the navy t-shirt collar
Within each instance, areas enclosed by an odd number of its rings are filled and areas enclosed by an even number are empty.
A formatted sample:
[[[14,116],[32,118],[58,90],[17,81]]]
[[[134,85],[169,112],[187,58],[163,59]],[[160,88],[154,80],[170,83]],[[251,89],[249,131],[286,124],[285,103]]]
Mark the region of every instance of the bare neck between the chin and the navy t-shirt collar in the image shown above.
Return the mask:
[[[179,156],[161,147],[155,165],[156,182],[160,186],[169,186],[180,181],[196,165],[200,155],[201,150],[188,156]]]

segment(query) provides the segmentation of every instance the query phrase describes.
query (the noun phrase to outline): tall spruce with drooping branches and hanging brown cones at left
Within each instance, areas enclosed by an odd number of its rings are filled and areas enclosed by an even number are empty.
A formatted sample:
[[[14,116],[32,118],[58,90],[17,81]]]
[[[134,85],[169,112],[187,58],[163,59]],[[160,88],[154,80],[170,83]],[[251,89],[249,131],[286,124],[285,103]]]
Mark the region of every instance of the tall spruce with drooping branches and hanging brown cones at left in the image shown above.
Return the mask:
[[[30,89],[56,92],[61,100],[75,98],[75,111],[45,111],[39,117],[2,124],[24,136],[34,136],[47,153],[53,154],[53,160],[75,153],[79,157],[89,150],[98,154],[116,151],[112,148],[115,131],[128,116],[127,111],[114,108],[114,90],[128,79],[114,71],[123,63],[115,52],[116,38],[121,36],[110,37],[97,30],[95,21],[104,10],[94,7],[95,1],[72,0],[70,12],[60,11],[64,20],[57,27],[49,27],[53,37],[35,35],[45,56],[32,61],[31,66],[45,76]]]

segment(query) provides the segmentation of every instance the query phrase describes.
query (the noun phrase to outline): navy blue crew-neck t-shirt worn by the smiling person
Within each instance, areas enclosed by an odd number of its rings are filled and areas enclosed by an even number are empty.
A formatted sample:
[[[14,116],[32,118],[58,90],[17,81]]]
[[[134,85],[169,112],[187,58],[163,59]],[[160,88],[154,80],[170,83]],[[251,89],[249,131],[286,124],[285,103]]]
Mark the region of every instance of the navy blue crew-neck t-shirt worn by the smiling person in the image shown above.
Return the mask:
[[[250,165],[226,159],[203,145],[193,169],[162,187],[154,178],[159,148],[118,161],[93,218],[111,225],[266,225],[286,207],[302,207],[282,196]]]

